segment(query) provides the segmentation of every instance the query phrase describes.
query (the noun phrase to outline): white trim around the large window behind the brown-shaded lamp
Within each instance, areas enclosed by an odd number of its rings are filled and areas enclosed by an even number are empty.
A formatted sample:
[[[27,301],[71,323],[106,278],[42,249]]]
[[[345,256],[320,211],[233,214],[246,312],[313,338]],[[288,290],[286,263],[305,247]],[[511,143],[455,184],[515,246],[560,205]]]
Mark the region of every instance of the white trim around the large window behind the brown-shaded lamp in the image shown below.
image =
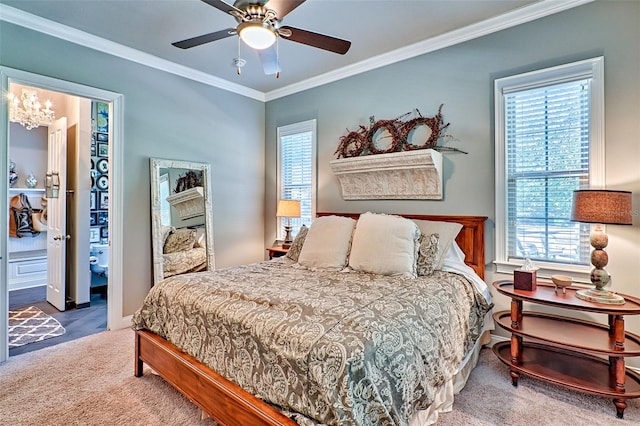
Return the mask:
[[[532,71],[494,82],[495,97],[495,138],[496,138],[496,272],[512,274],[522,266],[523,261],[508,259],[507,256],[507,189],[506,189],[506,138],[505,138],[505,97],[513,91],[533,89],[550,84],[559,84],[579,79],[591,79],[591,117],[589,146],[589,179],[591,188],[604,188],[605,147],[604,147],[604,57],[573,62],[553,68]],[[570,274],[574,281],[589,283],[591,266],[536,262],[540,278],[563,272]]]

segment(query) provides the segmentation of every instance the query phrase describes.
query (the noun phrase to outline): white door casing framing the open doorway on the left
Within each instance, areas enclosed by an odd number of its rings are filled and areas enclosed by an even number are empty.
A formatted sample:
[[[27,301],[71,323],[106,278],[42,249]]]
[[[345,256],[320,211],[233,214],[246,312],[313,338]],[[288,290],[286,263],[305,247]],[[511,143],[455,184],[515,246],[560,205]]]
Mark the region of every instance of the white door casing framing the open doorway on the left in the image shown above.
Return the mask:
[[[107,329],[124,328],[129,325],[127,318],[122,316],[122,203],[121,203],[121,175],[122,175],[122,95],[83,86],[72,82],[57,80],[46,76],[32,74],[20,70],[0,67],[2,92],[9,92],[10,85],[20,84],[37,87],[44,90],[59,92],[64,95],[85,99],[94,99],[107,105],[109,116],[112,118],[108,135],[111,143],[108,146],[109,164],[109,189],[107,200],[109,202],[109,225],[106,242],[111,255],[108,260],[109,286],[107,288]],[[3,96],[0,103],[0,119],[8,123],[7,100]],[[0,134],[0,146],[4,149],[0,152],[0,173],[9,172],[9,126],[3,125]],[[87,169],[89,173],[89,169]],[[7,176],[5,174],[5,176]],[[9,184],[8,180],[0,182],[0,193],[4,197],[0,199],[0,209],[8,211]],[[87,199],[86,205],[89,205]],[[8,230],[8,215],[0,215],[0,225]],[[7,235],[6,233],[4,235]],[[66,234],[65,234],[66,235]],[[8,351],[8,238],[0,239],[0,362],[7,359]],[[88,254],[88,253],[87,253]]]

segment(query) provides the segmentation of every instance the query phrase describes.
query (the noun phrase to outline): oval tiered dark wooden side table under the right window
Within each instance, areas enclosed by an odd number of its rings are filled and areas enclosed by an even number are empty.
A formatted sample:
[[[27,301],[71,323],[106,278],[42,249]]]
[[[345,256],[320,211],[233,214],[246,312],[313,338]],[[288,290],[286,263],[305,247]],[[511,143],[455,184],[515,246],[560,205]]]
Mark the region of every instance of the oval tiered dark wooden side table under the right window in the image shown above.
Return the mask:
[[[493,346],[509,366],[511,380],[525,374],[569,389],[612,397],[622,418],[627,399],[640,397],[640,374],[625,367],[625,358],[640,356],[640,336],[624,329],[624,315],[640,315],[640,299],[621,294],[623,305],[605,305],[578,299],[578,288],[566,294],[550,283],[537,283],[535,291],[515,290],[512,281],[496,281],[496,290],[511,298],[511,311],[493,318],[511,332],[511,341]],[[605,314],[608,325],[560,315],[523,311],[523,302]]]

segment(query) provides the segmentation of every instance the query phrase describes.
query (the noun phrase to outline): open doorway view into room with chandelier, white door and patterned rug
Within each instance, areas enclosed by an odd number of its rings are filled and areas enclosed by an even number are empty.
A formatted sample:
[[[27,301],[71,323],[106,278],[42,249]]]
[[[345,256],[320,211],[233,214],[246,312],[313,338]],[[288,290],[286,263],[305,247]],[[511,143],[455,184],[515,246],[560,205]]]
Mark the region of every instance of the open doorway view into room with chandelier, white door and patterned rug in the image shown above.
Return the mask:
[[[14,356],[106,330],[109,116],[103,102],[37,87],[10,83],[8,96],[10,205],[33,208],[9,233]]]

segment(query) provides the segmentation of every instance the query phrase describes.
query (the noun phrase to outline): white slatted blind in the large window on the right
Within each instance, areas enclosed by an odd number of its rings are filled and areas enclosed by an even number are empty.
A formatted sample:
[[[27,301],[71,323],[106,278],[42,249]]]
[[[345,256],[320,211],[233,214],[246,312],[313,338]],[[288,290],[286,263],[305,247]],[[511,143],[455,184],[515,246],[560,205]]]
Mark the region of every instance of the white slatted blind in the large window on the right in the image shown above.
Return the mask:
[[[505,95],[509,258],[589,264],[588,226],[571,222],[589,186],[590,79]]]

